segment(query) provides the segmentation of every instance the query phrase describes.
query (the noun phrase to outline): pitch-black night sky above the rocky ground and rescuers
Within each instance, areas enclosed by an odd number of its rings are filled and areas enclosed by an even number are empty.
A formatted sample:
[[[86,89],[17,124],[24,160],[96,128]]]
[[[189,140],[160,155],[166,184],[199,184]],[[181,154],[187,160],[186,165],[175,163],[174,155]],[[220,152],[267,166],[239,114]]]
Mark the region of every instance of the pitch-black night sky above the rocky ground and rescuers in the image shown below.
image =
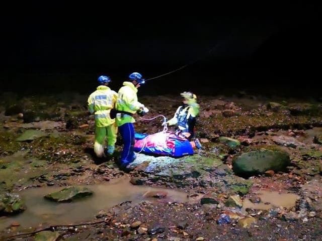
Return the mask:
[[[293,2],[214,2],[214,7],[187,9],[160,2],[147,10],[19,4],[2,15],[2,90],[18,85],[37,93],[41,85],[48,92],[91,92],[102,74],[112,78],[117,90],[133,71],[148,79],[188,64],[147,81],[140,91],[316,94],[322,82],[318,9]]]

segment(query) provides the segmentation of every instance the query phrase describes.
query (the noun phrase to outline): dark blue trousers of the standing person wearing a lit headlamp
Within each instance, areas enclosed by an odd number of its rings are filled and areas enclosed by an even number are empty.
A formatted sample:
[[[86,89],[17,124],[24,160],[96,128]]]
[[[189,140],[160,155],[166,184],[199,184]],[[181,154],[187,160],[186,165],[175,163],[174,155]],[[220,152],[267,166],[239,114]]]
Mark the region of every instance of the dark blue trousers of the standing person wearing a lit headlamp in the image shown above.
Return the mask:
[[[119,127],[120,134],[123,138],[123,150],[121,153],[121,165],[127,165],[133,161],[134,152],[134,127],[133,123],[125,123]]]

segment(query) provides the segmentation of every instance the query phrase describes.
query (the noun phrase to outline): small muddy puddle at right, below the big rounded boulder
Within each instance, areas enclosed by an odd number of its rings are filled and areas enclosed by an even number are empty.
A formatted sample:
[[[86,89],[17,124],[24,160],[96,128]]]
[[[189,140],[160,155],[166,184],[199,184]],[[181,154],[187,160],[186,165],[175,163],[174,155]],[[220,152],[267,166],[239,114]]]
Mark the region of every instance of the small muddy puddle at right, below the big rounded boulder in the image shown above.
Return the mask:
[[[299,196],[294,193],[279,193],[269,191],[258,191],[255,195],[261,198],[260,203],[252,203],[249,198],[243,201],[243,208],[268,210],[279,206],[292,208]],[[267,203],[267,204],[265,204]]]

